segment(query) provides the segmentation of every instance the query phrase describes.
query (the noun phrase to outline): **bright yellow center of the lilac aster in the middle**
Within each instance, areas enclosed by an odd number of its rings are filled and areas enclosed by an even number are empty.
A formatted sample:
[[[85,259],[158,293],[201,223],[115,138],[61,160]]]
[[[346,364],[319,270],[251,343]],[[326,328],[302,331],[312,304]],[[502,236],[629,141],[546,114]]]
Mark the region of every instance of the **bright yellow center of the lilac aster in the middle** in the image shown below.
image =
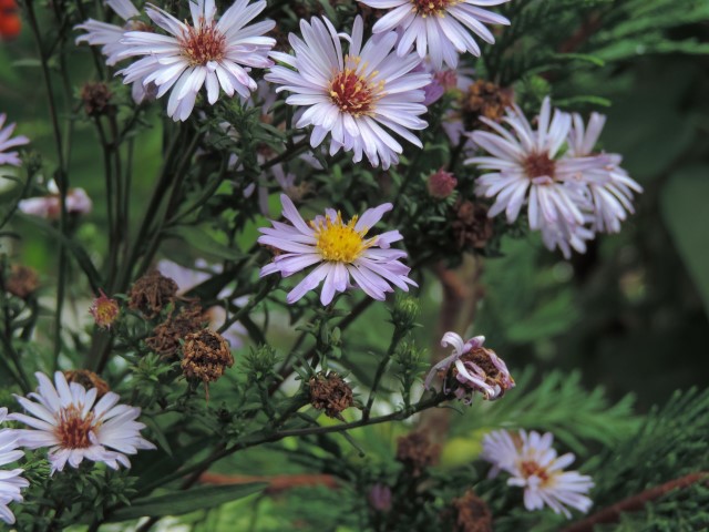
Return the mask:
[[[325,260],[353,263],[377,241],[377,238],[364,239],[367,228],[359,232],[354,229],[357,216],[345,224],[342,216],[338,213],[335,219],[326,216],[323,221],[310,222],[310,225],[315,229],[316,246]]]

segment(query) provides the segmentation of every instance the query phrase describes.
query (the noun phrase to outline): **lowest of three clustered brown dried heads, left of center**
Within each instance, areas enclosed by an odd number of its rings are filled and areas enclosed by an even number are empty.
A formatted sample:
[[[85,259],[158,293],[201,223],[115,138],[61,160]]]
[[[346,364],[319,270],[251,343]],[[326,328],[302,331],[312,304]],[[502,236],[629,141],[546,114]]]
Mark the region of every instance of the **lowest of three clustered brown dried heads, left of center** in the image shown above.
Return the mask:
[[[209,398],[208,383],[224,375],[226,368],[234,366],[229,344],[209,329],[192,332],[185,337],[182,348],[182,371],[187,379],[202,380]]]

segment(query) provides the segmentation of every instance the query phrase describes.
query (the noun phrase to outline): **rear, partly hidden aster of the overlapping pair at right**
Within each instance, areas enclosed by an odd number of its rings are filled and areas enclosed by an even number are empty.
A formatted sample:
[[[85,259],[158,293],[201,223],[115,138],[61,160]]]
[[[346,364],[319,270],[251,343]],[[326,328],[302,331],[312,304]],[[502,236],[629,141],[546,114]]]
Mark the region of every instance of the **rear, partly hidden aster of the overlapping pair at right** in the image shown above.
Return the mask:
[[[574,157],[603,156],[606,164],[599,165],[584,177],[594,205],[593,227],[602,233],[618,233],[627,213],[634,213],[633,193],[641,193],[643,187],[620,167],[623,157],[617,153],[596,154],[594,147],[606,123],[606,116],[592,113],[588,126],[584,119],[573,114],[568,133],[568,155]]]

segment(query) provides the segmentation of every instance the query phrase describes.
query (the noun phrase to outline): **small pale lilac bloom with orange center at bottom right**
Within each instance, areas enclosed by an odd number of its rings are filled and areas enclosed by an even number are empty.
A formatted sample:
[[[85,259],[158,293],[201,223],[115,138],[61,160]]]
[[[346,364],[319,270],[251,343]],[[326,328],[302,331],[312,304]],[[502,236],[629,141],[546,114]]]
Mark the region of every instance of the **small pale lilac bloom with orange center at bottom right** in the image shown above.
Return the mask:
[[[481,457],[493,464],[491,475],[500,470],[512,477],[508,485],[524,488],[524,507],[530,510],[542,510],[549,507],[555,513],[571,519],[567,507],[586,513],[593,505],[587,497],[594,482],[587,474],[576,471],[564,471],[575,457],[566,453],[561,457],[552,447],[554,437],[546,432],[521,430],[511,434],[506,430],[493,431],[483,438]]]

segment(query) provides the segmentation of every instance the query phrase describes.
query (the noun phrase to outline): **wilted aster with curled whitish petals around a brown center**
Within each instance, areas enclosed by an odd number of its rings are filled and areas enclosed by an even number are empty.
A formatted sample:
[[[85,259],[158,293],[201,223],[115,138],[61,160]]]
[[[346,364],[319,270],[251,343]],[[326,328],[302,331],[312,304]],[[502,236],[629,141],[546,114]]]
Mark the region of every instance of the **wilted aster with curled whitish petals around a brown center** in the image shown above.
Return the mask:
[[[425,388],[430,389],[433,378],[441,375],[445,379],[443,391],[452,392],[469,405],[475,391],[480,391],[486,400],[494,400],[514,388],[507,366],[495,351],[483,347],[484,341],[484,336],[463,341],[460,335],[445,332],[441,346],[452,346],[453,352],[431,368],[424,381]],[[455,379],[452,389],[448,388],[449,371]]]

